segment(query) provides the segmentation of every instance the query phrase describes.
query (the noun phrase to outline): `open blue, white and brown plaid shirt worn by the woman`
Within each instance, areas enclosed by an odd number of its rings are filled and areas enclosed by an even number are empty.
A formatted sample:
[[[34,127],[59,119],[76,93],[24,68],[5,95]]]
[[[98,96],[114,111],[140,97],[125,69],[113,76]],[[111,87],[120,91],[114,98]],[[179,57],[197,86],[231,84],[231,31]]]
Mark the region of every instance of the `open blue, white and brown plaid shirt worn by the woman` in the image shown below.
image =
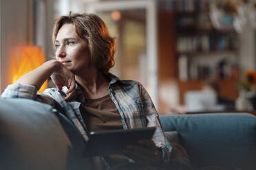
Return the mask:
[[[158,113],[156,108],[153,106],[153,102],[151,101],[147,90],[145,90],[145,88],[139,82],[120,80],[111,73],[109,73],[107,77],[110,79],[108,86],[109,94],[121,115],[123,129],[127,130],[152,126],[157,127],[156,132],[153,135],[153,141],[162,149],[162,158],[164,163],[169,164],[169,162],[172,162],[172,147],[164,137],[164,133],[158,118]],[[61,105],[65,115],[72,121],[72,123],[74,123],[74,125],[76,125],[85,141],[87,141],[87,127],[79,110],[81,103],[85,101],[85,97],[81,91],[81,88],[79,88],[77,84],[76,95],[71,101],[65,101],[63,99],[63,95],[65,95],[66,91],[67,88],[63,88],[62,91],[59,91],[56,88],[47,88],[42,94],[47,97],[50,96],[54,99],[53,101],[50,101],[52,106],[56,106],[54,105],[54,101],[57,101],[58,104]],[[1,97],[26,98],[42,101],[42,94],[37,93],[34,86],[25,84],[11,84],[6,88]]]

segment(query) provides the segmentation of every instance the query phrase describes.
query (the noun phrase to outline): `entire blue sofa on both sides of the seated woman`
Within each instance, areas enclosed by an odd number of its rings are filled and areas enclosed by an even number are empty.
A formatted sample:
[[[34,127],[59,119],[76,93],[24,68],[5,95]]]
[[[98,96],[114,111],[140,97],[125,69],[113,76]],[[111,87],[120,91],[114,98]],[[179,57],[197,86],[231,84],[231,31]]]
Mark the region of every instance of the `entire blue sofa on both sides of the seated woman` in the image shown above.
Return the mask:
[[[253,115],[169,115],[160,116],[160,121],[167,134],[178,132],[178,142],[188,151],[194,169],[256,167]],[[1,169],[93,169],[91,160],[82,156],[84,147],[76,127],[50,105],[0,99]]]

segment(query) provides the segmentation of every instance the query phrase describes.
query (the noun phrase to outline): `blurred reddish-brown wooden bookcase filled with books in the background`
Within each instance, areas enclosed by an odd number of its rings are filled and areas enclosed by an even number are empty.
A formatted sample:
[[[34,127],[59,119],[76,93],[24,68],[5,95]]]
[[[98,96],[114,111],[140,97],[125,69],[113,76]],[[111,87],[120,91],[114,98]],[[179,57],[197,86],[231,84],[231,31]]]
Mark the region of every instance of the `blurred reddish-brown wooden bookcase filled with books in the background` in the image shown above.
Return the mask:
[[[200,90],[211,77],[220,84],[220,96],[237,98],[239,40],[234,30],[213,29],[207,11],[159,12],[158,25],[159,82],[178,82],[180,104],[187,90]]]

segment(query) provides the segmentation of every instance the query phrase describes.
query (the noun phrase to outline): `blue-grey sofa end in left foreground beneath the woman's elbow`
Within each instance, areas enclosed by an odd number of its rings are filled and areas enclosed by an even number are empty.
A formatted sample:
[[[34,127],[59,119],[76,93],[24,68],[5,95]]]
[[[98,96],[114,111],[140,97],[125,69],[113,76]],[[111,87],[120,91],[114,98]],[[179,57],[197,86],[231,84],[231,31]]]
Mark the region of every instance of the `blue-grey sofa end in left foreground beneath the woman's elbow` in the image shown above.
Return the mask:
[[[91,169],[76,127],[47,104],[0,99],[1,169]]]

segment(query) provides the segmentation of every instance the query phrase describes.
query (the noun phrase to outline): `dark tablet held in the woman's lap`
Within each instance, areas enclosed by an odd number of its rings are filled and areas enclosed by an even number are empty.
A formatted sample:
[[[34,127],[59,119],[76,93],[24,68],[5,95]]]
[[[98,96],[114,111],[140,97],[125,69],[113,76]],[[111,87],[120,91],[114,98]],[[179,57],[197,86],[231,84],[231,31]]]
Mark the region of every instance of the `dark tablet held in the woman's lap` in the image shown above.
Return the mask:
[[[129,144],[135,144],[139,140],[150,140],[155,131],[156,127],[143,127],[131,130],[91,132],[83,156],[121,154],[122,150]]]

